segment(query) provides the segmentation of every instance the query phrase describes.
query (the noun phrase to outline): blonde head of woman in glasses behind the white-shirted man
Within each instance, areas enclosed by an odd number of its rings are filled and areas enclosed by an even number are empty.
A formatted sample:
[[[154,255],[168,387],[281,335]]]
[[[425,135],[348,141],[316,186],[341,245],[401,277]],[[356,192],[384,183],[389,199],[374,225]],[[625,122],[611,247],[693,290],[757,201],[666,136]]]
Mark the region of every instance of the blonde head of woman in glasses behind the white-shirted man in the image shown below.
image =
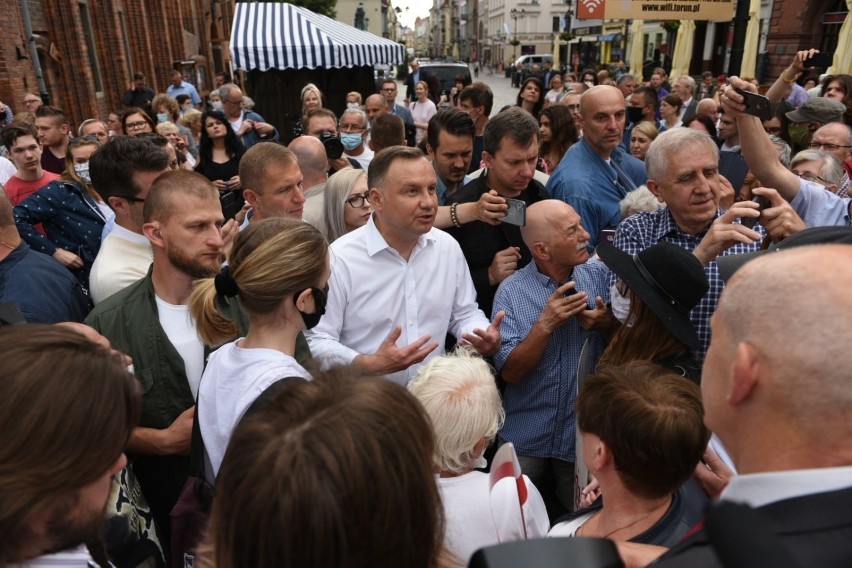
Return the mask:
[[[321,230],[329,243],[363,227],[373,214],[367,172],[346,168],[328,178]]]

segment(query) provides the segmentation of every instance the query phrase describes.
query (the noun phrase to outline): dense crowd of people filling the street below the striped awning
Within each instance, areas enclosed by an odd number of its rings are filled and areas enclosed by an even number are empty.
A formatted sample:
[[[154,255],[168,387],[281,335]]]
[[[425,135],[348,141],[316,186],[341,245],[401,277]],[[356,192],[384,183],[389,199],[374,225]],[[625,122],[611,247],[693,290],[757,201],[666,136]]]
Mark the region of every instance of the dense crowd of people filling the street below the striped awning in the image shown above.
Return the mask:
[[[848,565],[852,78],[815,54],[768,120],[742,78],[549,62],[492,112],[413,60],[402,103],[305,85],[286,145],[222,74],[206,101],[137,74],[77,136],[26,94],[0,564],[429,568],[582,536],[629,566]],[[753,538],[703,528],[725,501]]]

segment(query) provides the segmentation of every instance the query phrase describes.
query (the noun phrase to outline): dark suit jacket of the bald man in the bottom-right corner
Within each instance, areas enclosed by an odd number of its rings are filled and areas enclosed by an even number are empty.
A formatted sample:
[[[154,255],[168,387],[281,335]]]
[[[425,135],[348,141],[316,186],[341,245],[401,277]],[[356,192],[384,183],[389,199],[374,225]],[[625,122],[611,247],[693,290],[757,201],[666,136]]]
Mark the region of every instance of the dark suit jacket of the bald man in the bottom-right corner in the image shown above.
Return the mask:
[[[852,487],[778,501],[756,511],[801,566],[852,566]],[[721,568],[722,563],[702,529],[654,566]]]

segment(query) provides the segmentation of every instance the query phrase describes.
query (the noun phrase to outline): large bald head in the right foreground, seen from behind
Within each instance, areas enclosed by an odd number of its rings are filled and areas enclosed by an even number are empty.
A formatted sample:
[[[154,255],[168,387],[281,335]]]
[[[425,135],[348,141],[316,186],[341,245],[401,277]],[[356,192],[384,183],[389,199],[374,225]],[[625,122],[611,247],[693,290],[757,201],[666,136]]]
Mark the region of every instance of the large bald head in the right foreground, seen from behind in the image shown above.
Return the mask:
[[[748,374],[743,369],[762,377],[754,400],[742,404],[741,420],[764,417],[763,424],[789,425],[813,451],[828,449],[835,456],[845,452],[847,458],[852,456],[852,381],[839,362],[848,358],[852,338],[849,282],[849,245],[805,246],[749,262],[722,293],[704,373],[705,381],[721,377],[729,385]],[[744,355],[748,353],[753,354],[751,364]],[[730,390],[706,386],[708,426],[713,428],[714,419],[721,422],[726,412],[736,416],[737,411],[731,409],[735,404],[719,400],[730,399]],[[725,404],[727,408],[714,414],[712,409]],[[747,433],[728,434],[736,438]]]

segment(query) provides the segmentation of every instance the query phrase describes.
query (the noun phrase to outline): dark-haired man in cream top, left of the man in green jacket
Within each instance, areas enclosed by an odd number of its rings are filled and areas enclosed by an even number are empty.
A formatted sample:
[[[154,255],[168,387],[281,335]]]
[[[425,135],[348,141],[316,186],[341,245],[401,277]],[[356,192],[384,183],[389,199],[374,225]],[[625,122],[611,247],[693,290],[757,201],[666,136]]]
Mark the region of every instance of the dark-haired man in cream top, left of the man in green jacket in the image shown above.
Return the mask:
[[[89,275],[95,304],[148,272],[151,243],[142,234],[142,208],[151,184],[167,171],[166,151],[134,136],[119,136],[92,154],[92,186],[115,212],[115,227],[101,243]]]

